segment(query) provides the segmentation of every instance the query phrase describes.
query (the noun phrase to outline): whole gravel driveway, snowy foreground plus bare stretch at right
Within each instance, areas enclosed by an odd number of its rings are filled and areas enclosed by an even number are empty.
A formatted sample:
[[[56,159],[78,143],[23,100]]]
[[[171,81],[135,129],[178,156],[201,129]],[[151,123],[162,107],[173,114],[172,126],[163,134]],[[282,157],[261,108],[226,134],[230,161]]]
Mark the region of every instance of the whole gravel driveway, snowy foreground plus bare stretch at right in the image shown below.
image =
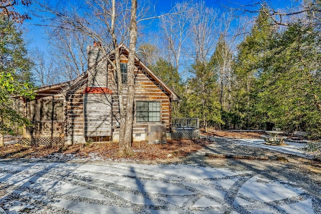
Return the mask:
[[[239,140],[209,140],[166,164],[1,160],[0,213],[321,213],[320,163]]]

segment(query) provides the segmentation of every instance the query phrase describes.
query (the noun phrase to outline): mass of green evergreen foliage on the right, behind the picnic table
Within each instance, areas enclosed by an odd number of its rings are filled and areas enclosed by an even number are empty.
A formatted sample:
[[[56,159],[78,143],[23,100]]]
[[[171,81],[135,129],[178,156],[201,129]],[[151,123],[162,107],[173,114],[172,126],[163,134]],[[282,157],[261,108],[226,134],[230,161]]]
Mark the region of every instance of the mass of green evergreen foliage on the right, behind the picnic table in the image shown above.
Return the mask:
[[[223,120],[241,129],[274,124],[320,137],[320,38],[300,22],[280,32],[269,23],[261,13],[238,47],[234,105]]]

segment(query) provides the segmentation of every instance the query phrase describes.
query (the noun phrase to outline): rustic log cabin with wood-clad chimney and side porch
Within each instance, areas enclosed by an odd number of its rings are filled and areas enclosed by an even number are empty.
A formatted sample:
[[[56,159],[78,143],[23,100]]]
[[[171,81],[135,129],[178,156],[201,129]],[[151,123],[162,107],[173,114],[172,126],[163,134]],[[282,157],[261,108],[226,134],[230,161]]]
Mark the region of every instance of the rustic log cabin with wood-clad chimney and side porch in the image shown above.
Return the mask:
[[[114,56],[103,54],[102,48],[97,43],[88,46],[88,70],[75,80],[41,87],[35,91],[36,99],[24,100],[25,116],[32,123],[24,129],[25,143],[74,144],[89,138],[95,142],[118,141],[116,74],[109,61]],[[119,48],[126,94],[128,49],[124,45]],[[171,104],[179,99],[136,57],[133,141],[166,141],[171,130]]]

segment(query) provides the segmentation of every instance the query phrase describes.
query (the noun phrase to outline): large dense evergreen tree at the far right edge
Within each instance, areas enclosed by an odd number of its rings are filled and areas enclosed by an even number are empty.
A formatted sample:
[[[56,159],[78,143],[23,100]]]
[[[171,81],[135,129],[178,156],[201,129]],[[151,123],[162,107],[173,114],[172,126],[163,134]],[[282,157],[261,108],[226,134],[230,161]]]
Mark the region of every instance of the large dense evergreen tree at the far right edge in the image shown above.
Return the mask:
[[[320,39],[311,27],[291,24],[275,35],[258,81],[256,109],[283,130],[321,136]]]

